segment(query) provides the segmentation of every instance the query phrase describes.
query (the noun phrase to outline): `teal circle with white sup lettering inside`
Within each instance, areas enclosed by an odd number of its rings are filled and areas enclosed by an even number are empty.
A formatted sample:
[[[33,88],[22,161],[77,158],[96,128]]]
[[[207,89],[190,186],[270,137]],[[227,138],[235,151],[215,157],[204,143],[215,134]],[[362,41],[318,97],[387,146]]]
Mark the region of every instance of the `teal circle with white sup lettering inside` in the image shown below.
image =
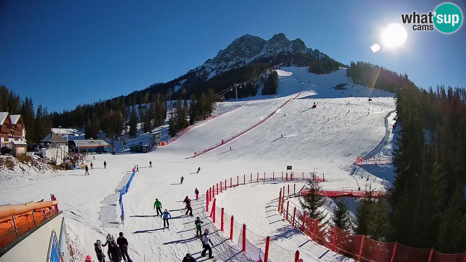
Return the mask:
[[[462,21],[461,10],[453,4],[441,4],[435,9],[434,25],[440,32],[453,33],[458,30]]]

